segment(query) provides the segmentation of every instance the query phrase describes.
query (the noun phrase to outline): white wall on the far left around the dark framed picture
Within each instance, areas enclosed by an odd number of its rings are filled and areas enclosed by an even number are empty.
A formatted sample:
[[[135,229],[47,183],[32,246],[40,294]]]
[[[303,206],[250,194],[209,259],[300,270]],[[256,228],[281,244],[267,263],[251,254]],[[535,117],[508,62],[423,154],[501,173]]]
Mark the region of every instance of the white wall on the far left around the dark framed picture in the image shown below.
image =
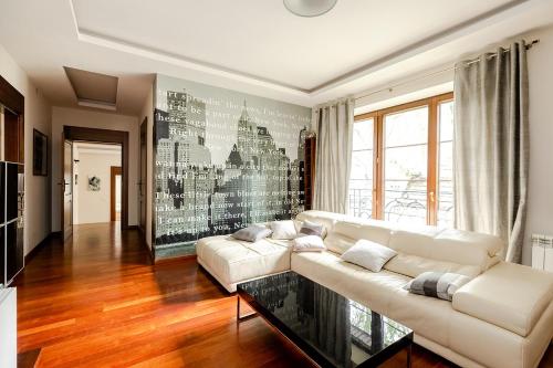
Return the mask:
[[[50,176],[35,177],[32,175],[33,128],[45,134],[50,140],[49,145],[51,145],[51,106],[2,45],[0,45],[0,75],[25,97],[24,253],[28,254],[51,232]],[[50,172],[51,167],[49,168],[49,175]]]

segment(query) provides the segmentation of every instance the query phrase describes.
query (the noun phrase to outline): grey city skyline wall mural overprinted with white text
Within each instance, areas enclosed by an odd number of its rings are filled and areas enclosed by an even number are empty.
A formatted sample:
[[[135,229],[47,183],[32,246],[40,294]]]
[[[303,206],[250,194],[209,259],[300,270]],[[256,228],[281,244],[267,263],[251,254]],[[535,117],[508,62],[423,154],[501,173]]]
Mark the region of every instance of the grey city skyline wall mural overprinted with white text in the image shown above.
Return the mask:
[[[164,75],[155,106],[156,251],[303,210],[311,108]]]

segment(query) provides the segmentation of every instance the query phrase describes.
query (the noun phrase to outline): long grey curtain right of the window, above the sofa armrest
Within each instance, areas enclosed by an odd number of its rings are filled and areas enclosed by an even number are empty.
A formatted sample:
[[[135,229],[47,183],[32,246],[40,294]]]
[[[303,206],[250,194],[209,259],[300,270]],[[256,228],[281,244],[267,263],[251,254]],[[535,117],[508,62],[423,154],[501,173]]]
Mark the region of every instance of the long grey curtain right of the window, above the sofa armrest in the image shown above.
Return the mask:
[[[526,217],[528,90],[524,41],[456,65],[456,227],[499,235],[515,263]]]

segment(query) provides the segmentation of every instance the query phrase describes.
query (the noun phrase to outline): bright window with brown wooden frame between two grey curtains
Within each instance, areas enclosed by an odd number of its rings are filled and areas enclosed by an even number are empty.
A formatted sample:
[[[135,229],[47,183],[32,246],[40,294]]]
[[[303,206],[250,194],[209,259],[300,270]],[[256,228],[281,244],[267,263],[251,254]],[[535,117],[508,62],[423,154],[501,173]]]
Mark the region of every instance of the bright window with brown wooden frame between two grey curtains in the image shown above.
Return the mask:
[[[355,117],[349,213],[452,227],[452,94]]]

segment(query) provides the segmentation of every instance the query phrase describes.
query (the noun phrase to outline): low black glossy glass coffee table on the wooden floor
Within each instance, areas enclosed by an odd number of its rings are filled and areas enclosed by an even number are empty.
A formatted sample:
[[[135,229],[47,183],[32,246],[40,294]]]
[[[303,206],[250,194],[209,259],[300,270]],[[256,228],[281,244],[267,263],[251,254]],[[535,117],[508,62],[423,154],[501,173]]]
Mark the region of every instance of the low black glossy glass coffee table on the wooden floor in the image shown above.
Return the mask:
[[[321,367],[377,367],[407,350],[413,330],[295,272],[239,284],[237,323],[262,316]],[[255,313],[240,314],[240,299]]]

